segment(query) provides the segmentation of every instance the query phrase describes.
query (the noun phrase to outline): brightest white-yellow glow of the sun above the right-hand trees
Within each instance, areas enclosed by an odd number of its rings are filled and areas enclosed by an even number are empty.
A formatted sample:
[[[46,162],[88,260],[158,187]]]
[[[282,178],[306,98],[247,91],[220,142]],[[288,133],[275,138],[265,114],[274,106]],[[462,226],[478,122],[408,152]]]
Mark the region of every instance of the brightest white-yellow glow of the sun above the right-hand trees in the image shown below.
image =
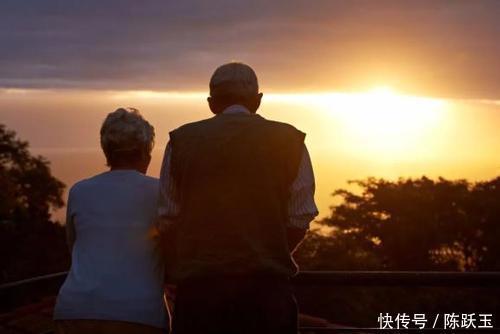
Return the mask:
[[[340,122],[354,152],[390,160],[428,155],[446,109],[443,100],[397,94],[388,87],[325,96],[321,104]]]

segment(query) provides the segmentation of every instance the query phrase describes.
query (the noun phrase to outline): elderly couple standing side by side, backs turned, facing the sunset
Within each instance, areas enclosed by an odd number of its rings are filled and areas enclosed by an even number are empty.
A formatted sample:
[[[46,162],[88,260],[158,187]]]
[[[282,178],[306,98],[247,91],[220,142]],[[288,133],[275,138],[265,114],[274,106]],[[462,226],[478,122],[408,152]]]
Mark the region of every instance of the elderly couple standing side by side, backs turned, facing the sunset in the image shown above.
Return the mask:
[[[256,114],[242,63],[210,79],[214,117],[170,132],[160,179],[146,176],[153,127],[110,113],[110,171],[69,192],[72,265],[54,310],[58,333],[297,333],[292,253],[317,215],[305,134]],[[151,233],[154,229],[155,233]]]

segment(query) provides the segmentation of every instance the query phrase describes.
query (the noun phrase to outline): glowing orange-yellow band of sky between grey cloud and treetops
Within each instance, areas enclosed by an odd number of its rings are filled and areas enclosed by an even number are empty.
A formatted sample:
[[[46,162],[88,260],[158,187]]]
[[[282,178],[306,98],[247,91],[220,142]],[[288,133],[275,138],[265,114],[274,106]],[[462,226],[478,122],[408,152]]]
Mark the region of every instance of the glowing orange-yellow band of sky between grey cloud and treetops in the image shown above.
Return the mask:
[[[118,106],[141,110],[156,130],[149,174],[157,176],[168,131],[210,117],[203,93],[138,91],[3,91],[0,118],[52,161],[71,185],[105,170],[99,128]],[[307,133],[321,216],[330,194],[368,176],[444,176],[483,180],[500,172],[500,103],[431,99],[388,88],[360,93],[265,94],[264,117]],[[58,215],[60,218],[61,215]]]

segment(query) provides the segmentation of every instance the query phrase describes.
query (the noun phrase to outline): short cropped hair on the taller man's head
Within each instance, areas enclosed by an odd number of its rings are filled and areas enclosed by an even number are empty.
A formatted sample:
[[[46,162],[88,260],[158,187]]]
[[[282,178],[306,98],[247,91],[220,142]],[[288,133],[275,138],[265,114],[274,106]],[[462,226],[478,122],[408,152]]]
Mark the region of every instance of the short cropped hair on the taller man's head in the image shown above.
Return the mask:
[[[210,96],[253,97],[259,93],[254,70],[244,63],[219,66],[210,78]]]

